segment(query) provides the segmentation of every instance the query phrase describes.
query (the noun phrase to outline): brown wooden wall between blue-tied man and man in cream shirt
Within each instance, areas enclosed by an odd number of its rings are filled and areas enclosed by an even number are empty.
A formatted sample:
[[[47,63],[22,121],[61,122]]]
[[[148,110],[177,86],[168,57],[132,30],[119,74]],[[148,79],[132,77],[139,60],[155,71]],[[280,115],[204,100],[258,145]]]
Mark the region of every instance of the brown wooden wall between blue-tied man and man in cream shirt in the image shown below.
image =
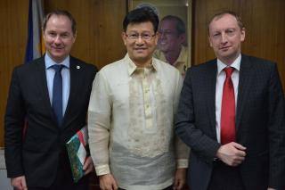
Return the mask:
[[[77,21],[77,39],[71,54],[97,67],[114,62],[125,54],[121,39],[126,0],[49,0],[45,11],[66,9]]]

